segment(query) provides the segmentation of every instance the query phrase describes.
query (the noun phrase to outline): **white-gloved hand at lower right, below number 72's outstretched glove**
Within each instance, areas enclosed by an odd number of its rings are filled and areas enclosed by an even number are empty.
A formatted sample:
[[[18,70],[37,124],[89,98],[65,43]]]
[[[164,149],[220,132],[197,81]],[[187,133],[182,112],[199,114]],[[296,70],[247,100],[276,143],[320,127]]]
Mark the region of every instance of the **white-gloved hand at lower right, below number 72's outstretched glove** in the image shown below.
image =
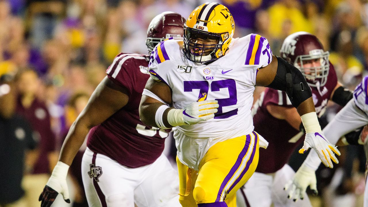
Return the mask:
[[[310,186],[313,194],[318,194],[315,171],[303,164],[295,173],[293,179],[286,183],[284,190],[290,189],[287,198],[296,202],[299,198],[304,199],[304,193],[308,186]]]

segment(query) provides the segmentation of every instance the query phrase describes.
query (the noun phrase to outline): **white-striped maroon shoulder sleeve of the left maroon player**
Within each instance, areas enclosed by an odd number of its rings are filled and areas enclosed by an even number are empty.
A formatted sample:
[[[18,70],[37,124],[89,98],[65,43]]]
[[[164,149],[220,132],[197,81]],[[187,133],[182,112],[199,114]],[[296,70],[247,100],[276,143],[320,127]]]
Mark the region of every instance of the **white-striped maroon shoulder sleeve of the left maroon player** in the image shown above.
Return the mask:
[[[115,84],[127,88],[129,95],[134,93],[137,80],[137,63],[146,62],[145,55],[120,53],[106,70],[107,77]]]

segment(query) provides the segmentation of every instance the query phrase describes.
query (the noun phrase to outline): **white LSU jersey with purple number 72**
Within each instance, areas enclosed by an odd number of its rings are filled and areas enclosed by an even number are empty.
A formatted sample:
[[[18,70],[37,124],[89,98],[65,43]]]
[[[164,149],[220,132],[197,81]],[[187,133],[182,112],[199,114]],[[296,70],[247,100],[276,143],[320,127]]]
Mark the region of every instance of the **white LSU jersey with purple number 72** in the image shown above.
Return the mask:
[[[253,131],[251,107],[256,74],[271,61],[267,39],[256,34],[233,39],[226,55],[208,65],[187,59],[182,38],[171,38],[156,46],[149,72],[153,79],[171,88],[172,107],[183,109],[203,93],[206,99],[219,103],[213,119],[176,127],[174,137],[183,164],[198,169],[209,147]]]

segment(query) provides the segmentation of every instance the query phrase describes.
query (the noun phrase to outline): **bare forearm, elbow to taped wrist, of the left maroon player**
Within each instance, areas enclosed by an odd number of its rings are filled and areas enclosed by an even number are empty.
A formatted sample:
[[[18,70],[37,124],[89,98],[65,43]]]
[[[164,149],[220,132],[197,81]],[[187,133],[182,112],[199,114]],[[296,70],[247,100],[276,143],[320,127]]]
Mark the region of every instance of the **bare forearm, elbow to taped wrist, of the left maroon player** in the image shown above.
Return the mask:
[[[59,161],[71,165],[90,129],[85,123],[78,122],[78,119],[72,124],[61,147]]]

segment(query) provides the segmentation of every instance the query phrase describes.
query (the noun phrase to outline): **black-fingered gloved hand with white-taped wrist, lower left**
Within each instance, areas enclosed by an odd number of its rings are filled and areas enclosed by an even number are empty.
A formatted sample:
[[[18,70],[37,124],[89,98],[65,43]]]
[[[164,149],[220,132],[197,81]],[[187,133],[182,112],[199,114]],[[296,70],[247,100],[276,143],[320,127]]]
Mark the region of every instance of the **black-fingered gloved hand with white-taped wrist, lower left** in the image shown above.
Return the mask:
[[[67,164],[60,161],[57,162],[49,181],[47,181],[43,192],[38,198],[38,201],[41,201],[41,207],[50,207],[59,193],[63,195],[65,202],[70,203],[66,180],[68,169],[69,166]]]

